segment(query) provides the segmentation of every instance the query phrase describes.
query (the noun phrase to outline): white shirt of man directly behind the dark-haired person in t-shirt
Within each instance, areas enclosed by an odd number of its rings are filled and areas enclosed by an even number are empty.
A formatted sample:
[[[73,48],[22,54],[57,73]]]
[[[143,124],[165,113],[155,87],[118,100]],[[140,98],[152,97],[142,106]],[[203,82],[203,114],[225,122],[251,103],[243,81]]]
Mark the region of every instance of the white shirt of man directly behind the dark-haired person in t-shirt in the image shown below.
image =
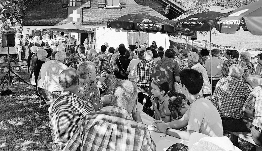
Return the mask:
[[[206,72],[206,69],[204,68],[203,65],[200,63],[197,63],[194,65],[191,69],[195,69],[196,71],[200,72],[203,75],[203,87],[202,87],[202,92],[203,94],[210,94],[211,93],[211,84],[208,79],[208,73]]]

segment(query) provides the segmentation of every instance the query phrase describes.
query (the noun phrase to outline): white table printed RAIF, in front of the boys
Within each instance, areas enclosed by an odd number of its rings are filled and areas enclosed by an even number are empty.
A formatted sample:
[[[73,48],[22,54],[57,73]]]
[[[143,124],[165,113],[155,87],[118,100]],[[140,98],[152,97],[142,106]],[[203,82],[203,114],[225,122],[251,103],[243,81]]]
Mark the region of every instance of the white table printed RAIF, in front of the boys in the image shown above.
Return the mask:
[[[112,107],[103,107],[103,110],[110,110]],[[150,131],[151,137],[156,144],[157,151],[166,151],[170,146],[176,143],[182,143],[188,146],[188,141],[166,135],[165,133],[155,132],[152,128],[152,123],[155,119],[141,112],[141,118],[144,124],[148,125],[148,130]]]

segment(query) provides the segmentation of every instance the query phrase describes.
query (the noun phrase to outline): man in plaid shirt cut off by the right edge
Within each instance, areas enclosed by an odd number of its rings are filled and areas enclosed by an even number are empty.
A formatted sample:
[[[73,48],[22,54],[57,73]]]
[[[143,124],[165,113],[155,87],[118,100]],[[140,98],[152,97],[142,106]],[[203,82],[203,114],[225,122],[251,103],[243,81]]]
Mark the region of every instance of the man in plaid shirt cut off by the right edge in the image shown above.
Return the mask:
[[[255,87],[249,94],[243,110],[246,115],[254,117],[251,128],[252,138],[258,146],[262,146],[262,85]]]

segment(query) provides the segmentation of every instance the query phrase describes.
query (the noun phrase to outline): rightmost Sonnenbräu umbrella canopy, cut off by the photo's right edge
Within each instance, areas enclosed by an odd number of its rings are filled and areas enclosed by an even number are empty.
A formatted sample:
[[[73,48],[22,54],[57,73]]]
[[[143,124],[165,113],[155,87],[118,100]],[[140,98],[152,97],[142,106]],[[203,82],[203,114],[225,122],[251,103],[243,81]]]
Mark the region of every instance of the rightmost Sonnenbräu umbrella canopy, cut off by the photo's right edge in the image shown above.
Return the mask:
[[[262,0],[247,4],[216,18],[216,30],[234,34],[240,29],[262,35]]]

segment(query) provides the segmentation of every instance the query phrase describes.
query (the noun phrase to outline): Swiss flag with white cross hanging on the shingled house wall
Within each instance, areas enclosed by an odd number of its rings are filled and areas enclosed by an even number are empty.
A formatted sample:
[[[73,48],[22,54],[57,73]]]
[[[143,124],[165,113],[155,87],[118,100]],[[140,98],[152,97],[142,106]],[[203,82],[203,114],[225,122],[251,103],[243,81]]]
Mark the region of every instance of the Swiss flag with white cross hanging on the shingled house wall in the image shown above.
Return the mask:
[[[82,25],[83,20],[83,8],[82,7],[68,7],[67,8],[67,20],[68,23],[75,23]]]

